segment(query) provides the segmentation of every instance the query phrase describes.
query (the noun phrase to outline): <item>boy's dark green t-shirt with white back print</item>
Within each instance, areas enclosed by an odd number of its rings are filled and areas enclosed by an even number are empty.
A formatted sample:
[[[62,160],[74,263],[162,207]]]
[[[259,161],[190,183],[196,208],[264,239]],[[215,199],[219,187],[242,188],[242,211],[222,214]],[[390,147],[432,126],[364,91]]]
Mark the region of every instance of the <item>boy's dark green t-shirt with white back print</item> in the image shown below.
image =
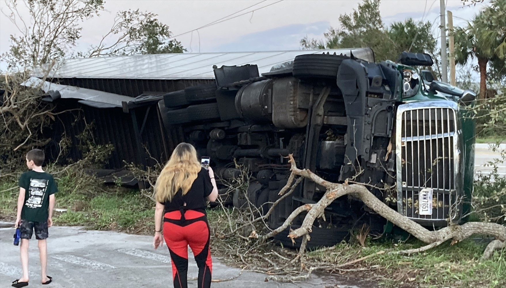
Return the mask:
[[[21,219],[47,222],[49,218],[49,195],[58,192],[53,175],[46,172],[28,171],[19,178],[19,187],[25,188],[25,202]]]

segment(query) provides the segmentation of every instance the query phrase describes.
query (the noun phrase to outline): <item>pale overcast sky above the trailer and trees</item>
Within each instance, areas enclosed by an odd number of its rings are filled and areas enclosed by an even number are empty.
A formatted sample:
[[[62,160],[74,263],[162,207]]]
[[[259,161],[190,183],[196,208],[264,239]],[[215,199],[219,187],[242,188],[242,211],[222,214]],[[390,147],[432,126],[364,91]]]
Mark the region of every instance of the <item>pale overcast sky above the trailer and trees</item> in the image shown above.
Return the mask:
[[[323,38],[323,33],[330,26],[339,26],[339,15],[352,12],[358,3],[359,0],[108,0],[106,11],[82,25],[82,37],[75,50],[86,51],[90,45],[97,44],[102,35],[109,31],[116,13],[121,10],[154,12],[160,21],[170,26],[174,35],[178,35],[255,4],[258,5],[234,16],[257,11],[178,36],[177,39],[188,52],[193,53],[298,50],[301,49],[301,38]],[[454,25],[465,25],[466,20],[471,20],[484,5],[486,2],[476,7],[462,7],[460,0],[447,1],[447,9],[453,12]],[[0,9],[6,11],[5,0],[0,0]],[[438,0],[383,0],[380,10],[386,24],[412,17],[434,22],[434,34],[439,35]],[[11,21],[0,14],[0,53],[9,49],[10,34],[17,33],[19,31]],[[4,67],[5,63],[0,63],[0,68]]]

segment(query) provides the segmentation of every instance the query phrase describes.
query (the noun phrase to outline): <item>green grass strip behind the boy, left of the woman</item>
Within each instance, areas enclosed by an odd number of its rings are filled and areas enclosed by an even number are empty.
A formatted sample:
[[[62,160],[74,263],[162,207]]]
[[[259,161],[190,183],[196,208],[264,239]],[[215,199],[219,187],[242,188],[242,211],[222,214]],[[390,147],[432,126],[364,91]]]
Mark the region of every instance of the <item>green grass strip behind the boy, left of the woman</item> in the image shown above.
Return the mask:
[[[55,208],[67,211],[53,213],[55,225],[135,234],[152,232],[154,203],[140,195],[139,190],[109,186],[93,192],[93,188],[76,189],[76,181],[65,178],[58,181]],[[7,190],[11,187],[16,188]],[[0,191],[0,219],[12,221],[16,218],[19,190],[14,182],[0,183]]]

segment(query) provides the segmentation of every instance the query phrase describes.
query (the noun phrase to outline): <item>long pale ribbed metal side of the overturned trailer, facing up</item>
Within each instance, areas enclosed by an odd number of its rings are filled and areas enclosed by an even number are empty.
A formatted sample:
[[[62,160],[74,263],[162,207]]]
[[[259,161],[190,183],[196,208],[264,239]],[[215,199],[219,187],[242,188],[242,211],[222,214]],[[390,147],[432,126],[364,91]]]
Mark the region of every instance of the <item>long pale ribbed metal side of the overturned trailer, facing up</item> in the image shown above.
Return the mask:
[[[32,76],[54,78],[121,78],[121,79],[213,79],[213,65],[258,65],[260,74],[271,67],[292,61],[302,54],[343,54],[373,62],[369,48],[333,50],[295,50],[268,52],[228,53],[175,53],[156,55],[132,55],[97,58],[65,59],[46,74],[46,69],[36,70]]]

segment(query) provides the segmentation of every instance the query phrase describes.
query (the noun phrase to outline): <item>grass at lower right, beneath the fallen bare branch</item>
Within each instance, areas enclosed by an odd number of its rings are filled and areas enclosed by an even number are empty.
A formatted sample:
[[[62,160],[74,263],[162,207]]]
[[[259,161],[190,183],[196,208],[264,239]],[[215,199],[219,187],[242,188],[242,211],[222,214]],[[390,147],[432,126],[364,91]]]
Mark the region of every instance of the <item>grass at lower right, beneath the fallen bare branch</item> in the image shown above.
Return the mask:
[[[418,240],[393,245],[391,242],[368,242],[367,247],[346,243],[338,244],[335,253],[310,253],[319,261],[336,264],[374,255],[351,268],[376,268],[363,277],[381,275],[380,284],[385,287],[504,287],[506,286],[506,250],[498,251],[492,259],[480,261],[486,243],[467,239],[450,245],[447,241],[424,253],[405,256],[392,252],[423,246]],[[379,265],[379,266],[376,266]],[[368,273],[368,274],[367,274]]]

